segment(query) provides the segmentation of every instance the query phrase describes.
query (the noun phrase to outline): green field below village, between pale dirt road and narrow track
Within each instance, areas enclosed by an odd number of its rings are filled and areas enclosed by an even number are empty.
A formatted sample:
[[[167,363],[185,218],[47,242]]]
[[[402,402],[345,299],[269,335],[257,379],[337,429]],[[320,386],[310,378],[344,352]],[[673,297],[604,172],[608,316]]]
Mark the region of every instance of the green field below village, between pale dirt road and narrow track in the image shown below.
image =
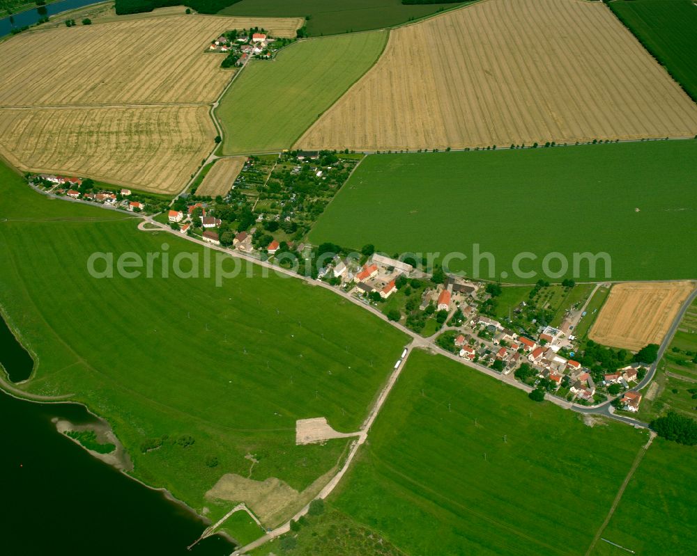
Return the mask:
[[[583,554],[647,438],[415,351],[330,503],[413,555]]]

